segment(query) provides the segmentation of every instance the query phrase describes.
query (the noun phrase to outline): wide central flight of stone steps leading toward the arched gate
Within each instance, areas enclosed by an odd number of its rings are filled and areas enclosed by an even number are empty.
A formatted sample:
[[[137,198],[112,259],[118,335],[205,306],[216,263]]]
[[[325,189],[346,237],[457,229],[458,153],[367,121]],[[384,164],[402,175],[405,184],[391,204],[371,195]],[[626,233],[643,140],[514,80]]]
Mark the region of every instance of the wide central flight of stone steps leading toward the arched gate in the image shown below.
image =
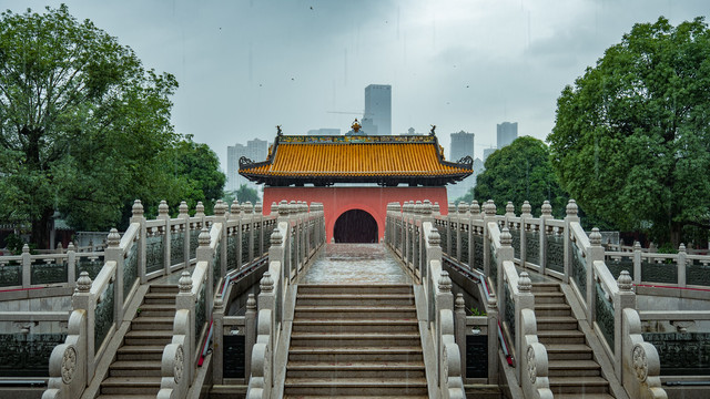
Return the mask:
[[[427,398],[410,285],[300,284],[286,398]]]

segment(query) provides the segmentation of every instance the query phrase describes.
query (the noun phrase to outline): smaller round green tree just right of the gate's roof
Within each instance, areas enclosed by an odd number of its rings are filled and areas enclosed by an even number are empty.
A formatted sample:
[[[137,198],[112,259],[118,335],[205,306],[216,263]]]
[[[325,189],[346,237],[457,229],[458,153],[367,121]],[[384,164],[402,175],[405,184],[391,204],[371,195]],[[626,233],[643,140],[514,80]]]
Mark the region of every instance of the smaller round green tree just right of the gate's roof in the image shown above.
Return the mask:
[[[474,198],[493,200],[500,212],[511,201],[520,214],[525,201],[539,215],[548,200],[557,216],[565,215],[568,195],[560,188],[549,162],[549,150],[540,140],[523,136],[488,156],[486,170],[478,175]]]

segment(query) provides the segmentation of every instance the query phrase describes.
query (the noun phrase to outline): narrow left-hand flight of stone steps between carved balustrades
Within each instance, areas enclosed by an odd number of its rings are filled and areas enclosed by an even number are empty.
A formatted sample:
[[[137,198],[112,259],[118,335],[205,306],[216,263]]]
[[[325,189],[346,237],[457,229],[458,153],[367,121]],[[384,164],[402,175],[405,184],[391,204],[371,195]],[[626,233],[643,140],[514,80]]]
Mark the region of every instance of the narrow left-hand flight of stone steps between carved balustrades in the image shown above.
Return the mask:
[[[176,285],[151,285],[101,382],[99,399],[155,398],[161,359],[173,335]]]

